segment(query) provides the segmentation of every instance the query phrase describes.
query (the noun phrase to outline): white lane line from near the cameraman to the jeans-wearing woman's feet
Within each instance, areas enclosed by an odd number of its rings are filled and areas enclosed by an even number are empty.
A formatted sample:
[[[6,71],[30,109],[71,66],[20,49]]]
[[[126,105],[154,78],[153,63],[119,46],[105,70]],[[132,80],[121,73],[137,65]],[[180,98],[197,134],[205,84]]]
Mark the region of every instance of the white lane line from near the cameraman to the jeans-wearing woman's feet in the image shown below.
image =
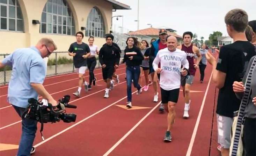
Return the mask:
[[[134,94],[134,93],[136,93],[136,92],[137,92],[137,91],[134,91],[132,94]],[[116,103],[118,103],[118,102],[124,100],[126,97],[127,97],[127,96],[125,96],[125,97],[123,97],[122,99],[120,99],[120,100],[118,100],[118,101],[116,101],[116,102],[114,102],[114,103],[108,105],[107,107],[105,107],[105,108],[99,110],[98,112],[96,112],[96,113],[94,113],[94,114],[92,114],[92,115],[90,115],[90,116],[84,118],[83,120],[81,120],[81,121],[79,121],[79,122],[73,124],[72,126],[70,126],[70,127],[66,128],[66,129],[60,131],[59,133],[54,134],[54,135],[51,136],[50,138],[47,138],[47,139],[45,139],[44,141],[37,143],[34,147],[38,147],[38,146],[42,145],[43,143],[45,143],[45,142],[47,142],[47,141],[49,141],[49,140],[51,140],[51,139],[53,139],[53,138],[59,136],[60,134],[66,132],[67,130],[70,130],[70,129],[73,128],[74,126],[79,125],[80,123],[82,123],[82,122],[88,120],[89,118],[91,118],[91,117],[93,117],[93,116],[95,116],[95,115],[101,113],[103,110],[105,110],[105,109],[107,109],[107,108],[109,108],[109,107],[115,105]]]

